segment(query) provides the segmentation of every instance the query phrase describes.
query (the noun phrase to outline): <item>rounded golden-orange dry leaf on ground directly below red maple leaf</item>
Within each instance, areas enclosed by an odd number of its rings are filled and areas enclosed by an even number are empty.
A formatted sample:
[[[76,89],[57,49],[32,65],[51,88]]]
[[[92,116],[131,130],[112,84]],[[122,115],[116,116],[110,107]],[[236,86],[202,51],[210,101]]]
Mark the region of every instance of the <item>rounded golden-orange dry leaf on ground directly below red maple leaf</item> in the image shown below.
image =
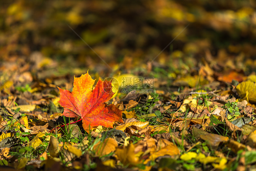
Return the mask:
[[[97,156],[101,157],[115,151],[117,145],[117,141],[114,138],[106,138],[103,142],[100,141],[95,144],[93,150]]]

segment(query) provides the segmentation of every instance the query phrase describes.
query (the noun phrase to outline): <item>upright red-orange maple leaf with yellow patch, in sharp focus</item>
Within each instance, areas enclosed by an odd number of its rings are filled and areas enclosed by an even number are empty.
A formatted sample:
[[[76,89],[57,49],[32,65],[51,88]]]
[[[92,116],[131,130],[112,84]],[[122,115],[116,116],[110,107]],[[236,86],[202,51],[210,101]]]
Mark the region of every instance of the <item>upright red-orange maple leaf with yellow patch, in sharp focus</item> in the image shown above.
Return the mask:
[[[74,88],[70,92],[68,90],[60,90],[60,105],[64,107],[61,115],[66,117],[79,118],[83,122],[83,128],[88,132],[90,127],[102,125],[104,127],[113,128],[115,121],[124,123],[122,119],[122,110],[118,109],[114,104],[107,105],[114,95],[112,91],[111,81],[99,81],[93,89],[95,80],[86,73],[81,77],[74,77]]]

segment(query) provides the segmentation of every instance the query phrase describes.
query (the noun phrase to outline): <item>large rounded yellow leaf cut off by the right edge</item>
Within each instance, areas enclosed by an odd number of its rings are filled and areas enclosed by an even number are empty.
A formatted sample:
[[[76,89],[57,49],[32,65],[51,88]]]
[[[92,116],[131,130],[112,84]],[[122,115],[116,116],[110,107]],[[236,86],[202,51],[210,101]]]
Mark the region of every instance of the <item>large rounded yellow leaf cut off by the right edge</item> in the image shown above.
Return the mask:
[[[248,98],[249,102],[256,103],[256,83],[244,81],[236,86],[236,91],[242,98]]]

